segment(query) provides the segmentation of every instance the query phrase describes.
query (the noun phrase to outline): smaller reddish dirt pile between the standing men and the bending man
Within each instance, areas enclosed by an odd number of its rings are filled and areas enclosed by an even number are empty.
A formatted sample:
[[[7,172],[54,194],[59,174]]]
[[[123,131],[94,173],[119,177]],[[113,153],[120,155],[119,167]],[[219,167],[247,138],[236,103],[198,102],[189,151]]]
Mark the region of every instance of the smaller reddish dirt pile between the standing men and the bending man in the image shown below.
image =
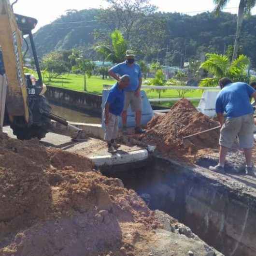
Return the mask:
[[[155,115],[148,123],[143,140],[156,144],[162,153],[195,153],[202,148],[218,147],[219,130],[192,137],[183,143],[183,137],[218,126],[218,122],[199,113],[186,99],[176,102],[165,115]]]

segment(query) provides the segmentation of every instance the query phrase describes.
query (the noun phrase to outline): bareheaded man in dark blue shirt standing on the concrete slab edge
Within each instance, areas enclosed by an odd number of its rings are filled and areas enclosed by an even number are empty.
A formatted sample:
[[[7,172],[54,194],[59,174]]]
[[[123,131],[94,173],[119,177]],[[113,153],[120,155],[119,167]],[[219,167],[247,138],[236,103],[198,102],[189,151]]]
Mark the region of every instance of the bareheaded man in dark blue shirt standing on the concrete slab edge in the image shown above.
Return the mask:
[[[108,99],[105,104],[105,140],[108,142],[108,152],[116,153],[115,139],[118,135],[119,116],[123,112],[125,93],[124,88],[129,85],[130,78],[123,75],[120,80],[110,89]]]

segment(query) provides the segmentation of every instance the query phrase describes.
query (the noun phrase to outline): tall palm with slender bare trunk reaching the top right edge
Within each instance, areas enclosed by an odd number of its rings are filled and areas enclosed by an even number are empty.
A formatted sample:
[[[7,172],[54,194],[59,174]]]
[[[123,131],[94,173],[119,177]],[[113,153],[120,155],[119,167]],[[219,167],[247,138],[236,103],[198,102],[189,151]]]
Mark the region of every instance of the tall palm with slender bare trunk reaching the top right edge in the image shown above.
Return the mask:
[[[215,11],[218,15],[220,11],[227,5],[229,0],[213,0],[216,4]],[[252,8],[256,5],[256,0],[240,0],[239,9],[238,9],[238,19],[237,19],[237,31],[236,31],[236,39],[234,44],[234,52],[232,60],[238,57],[238,49],[240,46],[240,34],[242,30],[242,22],[244,18],[244,14],[250,14]]]

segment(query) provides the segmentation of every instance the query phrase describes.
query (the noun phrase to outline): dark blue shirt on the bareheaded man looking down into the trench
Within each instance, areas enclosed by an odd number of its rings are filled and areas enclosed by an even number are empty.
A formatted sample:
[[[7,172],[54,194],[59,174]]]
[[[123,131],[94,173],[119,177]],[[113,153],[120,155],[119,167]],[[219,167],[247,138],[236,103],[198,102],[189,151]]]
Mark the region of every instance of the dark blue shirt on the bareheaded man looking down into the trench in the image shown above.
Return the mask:
[[[121,115],[124,108],[125,93],[118,88],[116,83],[109,91],[107,103],[109,103],[109,112],[114,115]]]

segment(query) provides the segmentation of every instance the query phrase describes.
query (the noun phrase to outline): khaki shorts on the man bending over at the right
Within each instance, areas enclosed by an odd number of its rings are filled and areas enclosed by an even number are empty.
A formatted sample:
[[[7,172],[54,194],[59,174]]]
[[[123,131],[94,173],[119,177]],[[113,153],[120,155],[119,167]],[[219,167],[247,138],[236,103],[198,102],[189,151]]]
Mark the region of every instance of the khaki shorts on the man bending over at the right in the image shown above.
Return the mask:
[[[231,148],[236,137],[239,138],[241,148],[249,149],[254,146],[254,117],[246,114],[239,117],[227,118],[220,130],[219,144]]]

